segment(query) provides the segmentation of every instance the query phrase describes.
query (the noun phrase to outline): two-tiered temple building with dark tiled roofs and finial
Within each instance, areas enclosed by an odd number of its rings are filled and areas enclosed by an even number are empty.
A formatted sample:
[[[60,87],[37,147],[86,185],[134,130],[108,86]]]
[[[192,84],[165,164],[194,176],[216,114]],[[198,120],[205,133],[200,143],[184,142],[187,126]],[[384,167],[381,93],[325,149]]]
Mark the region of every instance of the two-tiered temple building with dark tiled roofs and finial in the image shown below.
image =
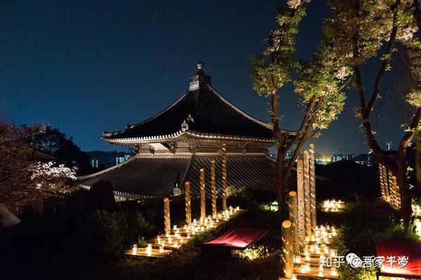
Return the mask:
[[[191,182],[199,194],[199,170],[205,169],[210,196],[210,161],[215,160],[216,187],[222,187],[222,144],[227,152],[227,185],[275,190],[275,160],[268,154],[274,145],[272,128],[233,105],[213,88],[210,76],[198,72],[189,78],[189,90],[150,119],[107,132],[102,139],[113,145],[135,148],[135,156],[99,173],[78,178],[89,189],[99,180],[111,182],[118,200],[147,199],[180,194]],[[288,133],[293,133],[288,131]],[[291,175],[288,185],[295,185]]]

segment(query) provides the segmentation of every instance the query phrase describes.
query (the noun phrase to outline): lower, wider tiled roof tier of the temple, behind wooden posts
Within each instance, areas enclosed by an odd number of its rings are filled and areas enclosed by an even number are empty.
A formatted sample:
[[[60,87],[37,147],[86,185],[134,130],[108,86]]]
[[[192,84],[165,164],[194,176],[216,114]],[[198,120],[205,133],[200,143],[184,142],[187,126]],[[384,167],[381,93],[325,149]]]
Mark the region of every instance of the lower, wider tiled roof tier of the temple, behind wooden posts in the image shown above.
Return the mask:
[[[220,156],[167,156],[139,157],[100,173],[78,178],[83,187],[99,180],[111,182],[114,192],[121,196],[156,197],[173,194],[175,182],[183,185],[189,180],[192,194],[199,195],[199,170],[205,169],[206,194],[210,196],[210,161],[215,159],[217,191],[222,187]],[[269,156],[228,156],[227,183],[246,189],[275,190],[275,162]],[[288,187],[296,185],[295,175],[290,176]],[[180,186],[182,189],[183,187]]]

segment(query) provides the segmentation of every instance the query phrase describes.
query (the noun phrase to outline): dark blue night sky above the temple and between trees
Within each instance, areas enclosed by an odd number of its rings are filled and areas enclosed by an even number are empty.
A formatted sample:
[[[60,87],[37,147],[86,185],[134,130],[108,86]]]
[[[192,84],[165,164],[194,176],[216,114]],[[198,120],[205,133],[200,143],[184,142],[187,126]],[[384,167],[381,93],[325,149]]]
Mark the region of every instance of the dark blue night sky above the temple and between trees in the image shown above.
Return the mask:
[[[268,121],[267,100],[250,79],[250,55],[260,53],[280,1],[1,1],[0,118],[60,128],[85,151],[126,150],[101,140],[102,131],[134,124],[177,100],[203,60],[213,86],[244,111]],[[281,1],[282,3],[282,1]],[[298,55],[319,44],[324,1],[309,4]],[[370,67],[371,68],[371,67]],[[372,69],[365,79],[372,81]],[[390,74],[389,74],[390,75]],[[383,87],[385,93],[394,90]],[[292,86],[281,91],[282,128],[295,129],[302,110]],[[378,107],[379,142],[396,142],[396,112]],[[368,152],[356,93],[321,138],[319,152]],[[390,118],[387,118],[390,119]]]

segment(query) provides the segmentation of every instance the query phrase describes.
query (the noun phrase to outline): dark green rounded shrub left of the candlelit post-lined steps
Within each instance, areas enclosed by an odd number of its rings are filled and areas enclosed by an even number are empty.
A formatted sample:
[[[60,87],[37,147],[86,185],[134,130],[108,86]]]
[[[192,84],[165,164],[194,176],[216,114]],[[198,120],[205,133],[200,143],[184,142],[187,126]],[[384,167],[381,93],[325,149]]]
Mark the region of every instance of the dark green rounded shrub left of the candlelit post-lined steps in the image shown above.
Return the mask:
[[[150,236],[152,232],[154,226],[140,213],[97,210],[88,218],[81,237],[90,254],[117,258],[140,236]]]

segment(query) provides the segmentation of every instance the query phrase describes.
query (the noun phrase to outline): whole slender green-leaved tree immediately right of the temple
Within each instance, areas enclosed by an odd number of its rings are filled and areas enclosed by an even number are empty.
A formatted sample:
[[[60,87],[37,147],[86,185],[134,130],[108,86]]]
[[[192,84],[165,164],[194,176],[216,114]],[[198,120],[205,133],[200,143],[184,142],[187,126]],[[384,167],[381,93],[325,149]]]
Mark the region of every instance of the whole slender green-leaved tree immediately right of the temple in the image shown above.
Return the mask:
[[[279,204],[285,202],[286,182],[304,143],[319,136],[342,111],[345,104],[342,88],[350,74],[349,67],[343,67],[335,60],[330,46],[324,41],[311,62],[295,58],[295,37],[298,24],[306,14],[305,2],[309,1],[290,0],[288,7],[279,7],[278,28],[270,32],[263,55],[252,58],[253,88],[271,100],[271,124],[278,148],[276,200]],[[293,135],[279,128],[279,90],[288,83],[295,86],[298,104],[304,111],[300,128]],[[292,159],[285,161],[286,153],[291,149]]]

